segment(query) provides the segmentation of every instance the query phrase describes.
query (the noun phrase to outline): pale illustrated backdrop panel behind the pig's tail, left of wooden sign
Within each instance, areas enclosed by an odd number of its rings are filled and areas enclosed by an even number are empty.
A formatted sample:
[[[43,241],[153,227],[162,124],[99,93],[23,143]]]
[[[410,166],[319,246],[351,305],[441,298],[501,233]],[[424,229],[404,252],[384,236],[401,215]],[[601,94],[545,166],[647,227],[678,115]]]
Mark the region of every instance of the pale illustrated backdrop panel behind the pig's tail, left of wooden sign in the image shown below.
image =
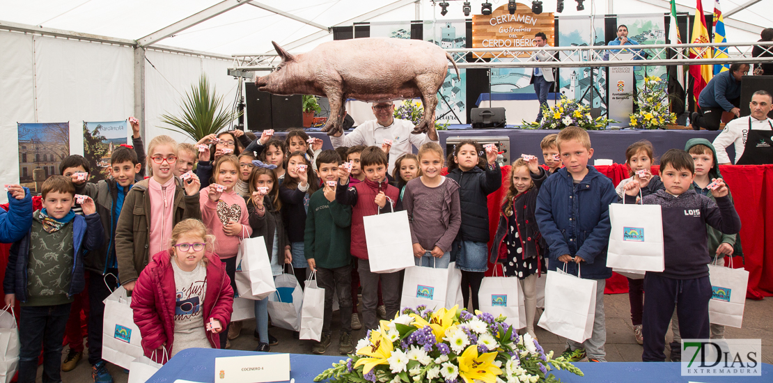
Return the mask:
[[[467,46],[465,20],[448,20],[434,23],[424,22],[424,41],[434,43],[443,49],[465,48]],[[463,53],[453,53],[458,60]],[[449,124],[467,123],[467,80],[464,69],[456,76],[454,68],[448,69],[443,86],[438,91],[438,108],[435,114],[440,121]]]

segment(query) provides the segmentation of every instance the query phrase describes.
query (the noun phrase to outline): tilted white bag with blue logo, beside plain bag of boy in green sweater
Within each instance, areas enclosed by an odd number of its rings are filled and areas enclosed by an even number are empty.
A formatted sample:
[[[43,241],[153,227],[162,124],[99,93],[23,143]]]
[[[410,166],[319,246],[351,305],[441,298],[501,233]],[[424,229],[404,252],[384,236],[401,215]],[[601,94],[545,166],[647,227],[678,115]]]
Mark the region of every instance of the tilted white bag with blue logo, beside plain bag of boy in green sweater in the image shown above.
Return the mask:
[[[303,292],[295,275],[277,275],[274,281],[276,291],[268,296],[268,315],[271,324],[285,330],[301,330],[301,307]]]

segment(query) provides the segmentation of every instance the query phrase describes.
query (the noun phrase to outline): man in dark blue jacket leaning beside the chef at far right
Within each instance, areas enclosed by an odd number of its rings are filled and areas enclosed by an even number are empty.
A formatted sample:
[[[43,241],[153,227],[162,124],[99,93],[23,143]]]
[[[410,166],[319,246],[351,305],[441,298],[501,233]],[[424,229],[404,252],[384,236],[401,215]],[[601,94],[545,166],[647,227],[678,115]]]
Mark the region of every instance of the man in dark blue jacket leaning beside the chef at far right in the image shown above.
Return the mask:
[[[741,77],[749,73],[749,64],[733,63],[730,70],[717,74],[700,91],[698,110],[690,115],[693,129],[718,130],[722,122],[722,112],[729,111],[735,117],[741,117]]]

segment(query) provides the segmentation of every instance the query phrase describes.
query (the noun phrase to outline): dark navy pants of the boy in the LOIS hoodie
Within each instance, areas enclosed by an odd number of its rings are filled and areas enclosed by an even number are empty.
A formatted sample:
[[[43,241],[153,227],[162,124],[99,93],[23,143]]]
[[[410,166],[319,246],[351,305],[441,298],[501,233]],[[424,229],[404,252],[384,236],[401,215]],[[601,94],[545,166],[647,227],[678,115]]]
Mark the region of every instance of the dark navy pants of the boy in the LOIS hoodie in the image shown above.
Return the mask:
[[[666,332],[676,306],[679,331],[684,339],[708,339],[711,282],[696,279],[671,279],[648,272],[644,277],[644,313],[642,361],[666,361],[663,347]]]

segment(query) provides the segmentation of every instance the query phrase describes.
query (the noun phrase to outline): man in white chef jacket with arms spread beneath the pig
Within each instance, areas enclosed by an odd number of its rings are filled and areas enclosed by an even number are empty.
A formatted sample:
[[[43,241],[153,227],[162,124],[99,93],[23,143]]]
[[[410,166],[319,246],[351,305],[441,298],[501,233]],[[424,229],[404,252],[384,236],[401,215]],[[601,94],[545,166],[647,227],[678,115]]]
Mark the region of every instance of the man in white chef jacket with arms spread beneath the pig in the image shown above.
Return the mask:
[[[389,152],[389,169],[391,174],[394,169],[395,159],[406,153],[413,152],[410,145],[417,148],[426,142],[438,142],[438,132],[431,128],[427,133],[417,135],[410,134],[414,130],[414,124],[407,120],[394,118],[394,104],[392,101],[374,102],[372,104],[375,120],[365,121],[354,128],[348,135],[340,133],[339,136],[331,135],[330,143],[334,148],[339,146],[381,146],[383,140],[392,140],[392,148]],[[440,142],[438,142],[440,143]]]

